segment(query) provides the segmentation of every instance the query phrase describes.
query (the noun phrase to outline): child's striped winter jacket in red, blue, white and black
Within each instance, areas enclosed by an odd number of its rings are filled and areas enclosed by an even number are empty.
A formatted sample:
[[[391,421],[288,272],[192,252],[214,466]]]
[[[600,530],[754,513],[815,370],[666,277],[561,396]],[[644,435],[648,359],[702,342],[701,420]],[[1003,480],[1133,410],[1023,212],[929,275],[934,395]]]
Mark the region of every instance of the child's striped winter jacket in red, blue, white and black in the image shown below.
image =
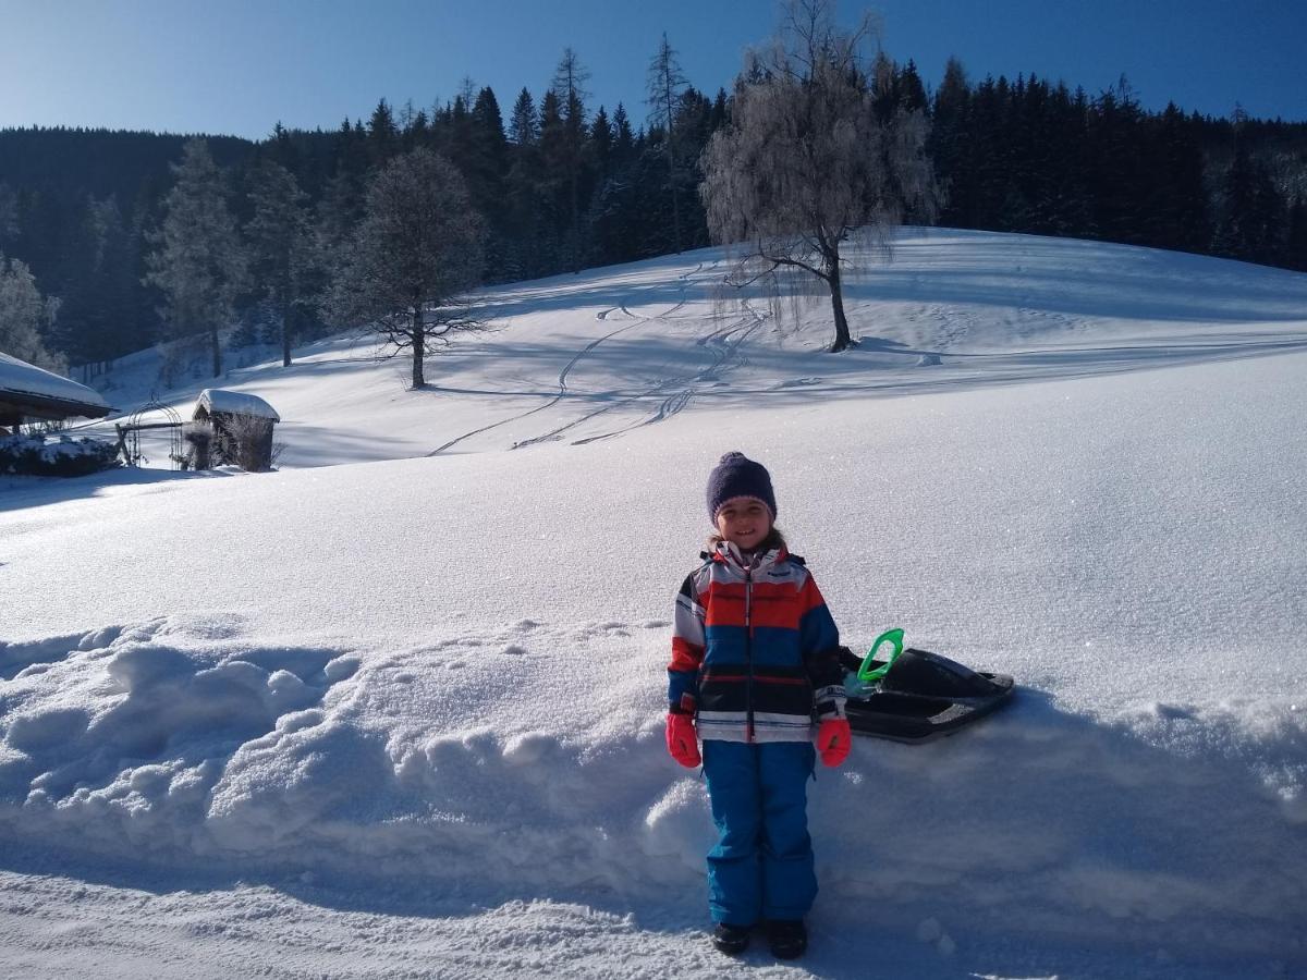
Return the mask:
[[[718,545],[676,597],[668,698],[699,738],[801,742],[844,716],[839,631],[804,559],[774,549],[748,567]]]

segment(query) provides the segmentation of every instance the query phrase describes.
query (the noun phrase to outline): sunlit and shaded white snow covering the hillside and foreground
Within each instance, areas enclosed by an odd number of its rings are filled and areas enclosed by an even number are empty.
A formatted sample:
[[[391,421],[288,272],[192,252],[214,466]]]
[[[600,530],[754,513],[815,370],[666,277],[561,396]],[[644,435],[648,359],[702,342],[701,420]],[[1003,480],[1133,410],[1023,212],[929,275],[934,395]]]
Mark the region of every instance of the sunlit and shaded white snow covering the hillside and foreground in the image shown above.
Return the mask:
[[[233,370],[276,473],[0,480],[0,975],[1307,973],[1307,277],[906,230],[830,355],[724,264],[488,290],[423,392]],[[708,949],[663,747],[735,448],[846,643],[1021,686],[818,771],[786,967]]]

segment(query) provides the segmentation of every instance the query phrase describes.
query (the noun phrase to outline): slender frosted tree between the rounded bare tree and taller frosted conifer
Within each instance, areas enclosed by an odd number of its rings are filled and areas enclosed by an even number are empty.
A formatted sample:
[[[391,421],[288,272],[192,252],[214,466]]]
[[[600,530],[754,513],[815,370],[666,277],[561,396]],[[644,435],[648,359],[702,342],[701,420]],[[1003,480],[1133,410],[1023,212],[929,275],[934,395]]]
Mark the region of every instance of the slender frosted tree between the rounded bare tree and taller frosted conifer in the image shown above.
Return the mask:
[[[250,259],[260,291],[281,320],[281,363],[290,367],[295,320],[311,302],[319,269],[308,196],[285,167],[265,161],[250,187],[254,217],[246,223]]]

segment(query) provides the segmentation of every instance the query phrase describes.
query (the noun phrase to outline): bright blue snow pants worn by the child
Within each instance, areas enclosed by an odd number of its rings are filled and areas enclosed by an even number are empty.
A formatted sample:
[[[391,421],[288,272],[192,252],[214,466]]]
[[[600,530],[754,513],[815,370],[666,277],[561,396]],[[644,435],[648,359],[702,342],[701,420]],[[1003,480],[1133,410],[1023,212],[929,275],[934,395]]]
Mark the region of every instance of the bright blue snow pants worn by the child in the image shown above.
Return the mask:
[[[708,852],[714,923],[802,919],[817,898],[808,779],[812,742],[703,742],[718,844]]]

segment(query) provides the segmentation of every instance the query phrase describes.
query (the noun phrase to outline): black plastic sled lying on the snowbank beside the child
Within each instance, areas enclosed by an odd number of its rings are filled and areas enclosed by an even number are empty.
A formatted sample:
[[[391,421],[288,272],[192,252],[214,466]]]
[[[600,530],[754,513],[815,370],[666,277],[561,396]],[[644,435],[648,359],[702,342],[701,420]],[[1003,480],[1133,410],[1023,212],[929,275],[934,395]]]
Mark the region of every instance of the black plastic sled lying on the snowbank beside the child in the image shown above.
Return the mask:
[[[863,659],[840,647],[839,662],[856,673]],[[931,742],[997,711],[1012,689],[1006,674],[980,673],[938,653],[908,647],[894,659],[874,691],[848,698],[844,710],[855,734]]]

